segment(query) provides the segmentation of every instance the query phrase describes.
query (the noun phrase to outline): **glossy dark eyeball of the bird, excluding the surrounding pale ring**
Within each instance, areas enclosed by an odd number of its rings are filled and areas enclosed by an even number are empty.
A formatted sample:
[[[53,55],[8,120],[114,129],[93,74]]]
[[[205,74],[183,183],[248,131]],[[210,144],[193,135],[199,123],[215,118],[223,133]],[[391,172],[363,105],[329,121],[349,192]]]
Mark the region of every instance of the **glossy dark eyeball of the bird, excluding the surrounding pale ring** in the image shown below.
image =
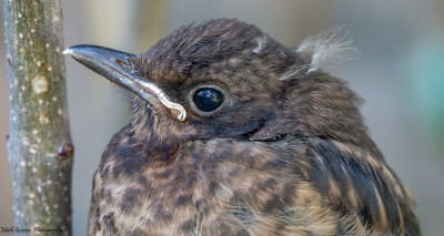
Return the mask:
[[[223,94],[214,89],[200,89],[193,95],[195,107],[202,112],[213,112],[223,103]]]

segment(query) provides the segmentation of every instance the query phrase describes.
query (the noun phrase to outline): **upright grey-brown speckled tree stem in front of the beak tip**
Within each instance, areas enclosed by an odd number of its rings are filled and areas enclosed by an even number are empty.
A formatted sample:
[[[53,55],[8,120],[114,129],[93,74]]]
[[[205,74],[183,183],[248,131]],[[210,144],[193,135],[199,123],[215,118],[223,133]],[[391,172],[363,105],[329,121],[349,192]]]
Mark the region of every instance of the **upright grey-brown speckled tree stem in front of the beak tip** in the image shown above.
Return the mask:
[[[16,233],[71,235],[61,1],[4,0]],[[21,234],[20,234],[21,235]]]

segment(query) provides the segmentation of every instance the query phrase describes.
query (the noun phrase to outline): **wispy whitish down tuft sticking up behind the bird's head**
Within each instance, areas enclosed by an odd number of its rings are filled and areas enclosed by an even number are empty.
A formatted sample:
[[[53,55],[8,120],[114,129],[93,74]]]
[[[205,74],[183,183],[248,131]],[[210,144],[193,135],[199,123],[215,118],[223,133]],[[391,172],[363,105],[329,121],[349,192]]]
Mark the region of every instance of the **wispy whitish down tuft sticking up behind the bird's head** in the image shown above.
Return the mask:
[[[349,34],[344,27],[336,27],[302,41],[296,52],[310,62],[306,73],[329,70],[353,59],[356,49]]]

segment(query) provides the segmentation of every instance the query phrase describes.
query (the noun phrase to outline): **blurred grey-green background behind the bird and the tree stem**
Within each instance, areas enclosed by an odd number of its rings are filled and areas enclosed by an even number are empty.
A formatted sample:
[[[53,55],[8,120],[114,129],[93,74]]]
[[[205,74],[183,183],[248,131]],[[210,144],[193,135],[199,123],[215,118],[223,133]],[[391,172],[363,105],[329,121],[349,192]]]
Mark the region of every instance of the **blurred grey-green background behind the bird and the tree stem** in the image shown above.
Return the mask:
[[[366,102],[371,136],[417,198],[424,235],[444,232],[443,0],[63,0],[64,44],[144,52],[180,25],[212,18],[254,23],[289,47],[345,24],[359,58],[336,70]],[[1,16],[2,18],[2,16]],[[0,27],[2,29],[2,24]],[[4,44],[0,44],[0,226],[13,225],[7,161]],[[85,235],[92,174],[111,136],[129,122],[128,103],[103,79],[67,58],[72,138],[73,233]]]

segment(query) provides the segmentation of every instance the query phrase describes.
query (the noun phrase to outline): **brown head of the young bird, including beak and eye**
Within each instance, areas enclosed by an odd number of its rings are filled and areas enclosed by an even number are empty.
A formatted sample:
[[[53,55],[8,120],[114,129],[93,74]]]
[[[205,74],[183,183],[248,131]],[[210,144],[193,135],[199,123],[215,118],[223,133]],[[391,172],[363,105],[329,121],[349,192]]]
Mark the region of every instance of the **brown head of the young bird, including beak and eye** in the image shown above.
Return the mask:
[[[252,24],[219,19],[180,28],[139,55],[94,45],[64,53],[131,91],[134,135],[360,142],[359,99],[314,66],[316,45],[304,47],[292,50]]]

